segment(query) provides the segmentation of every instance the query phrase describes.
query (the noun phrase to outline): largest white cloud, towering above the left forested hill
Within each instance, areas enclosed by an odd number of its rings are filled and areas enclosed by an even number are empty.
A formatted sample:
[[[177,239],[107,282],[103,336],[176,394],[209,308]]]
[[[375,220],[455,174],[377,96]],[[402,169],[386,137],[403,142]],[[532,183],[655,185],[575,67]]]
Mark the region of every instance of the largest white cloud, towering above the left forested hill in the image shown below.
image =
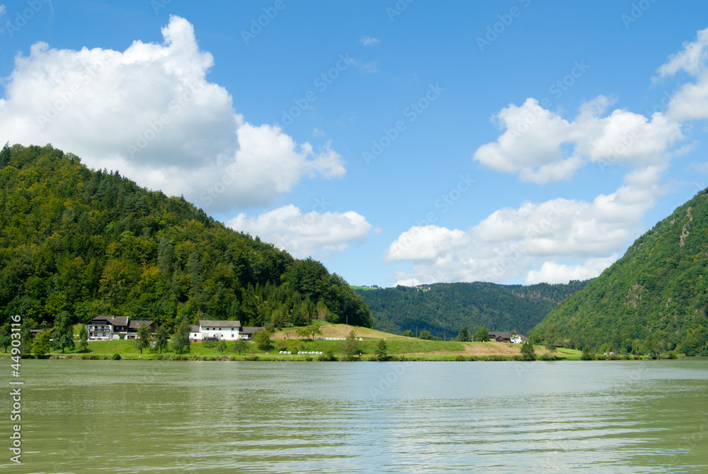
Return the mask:
[[[6,83],[0,139],[50,142],[210,211],[268,205],[304,177],[346,173],[329,145],[313,149],[236,114],[226,89],[207,81],[214,60],[188,21],[172,16],[162,34],[161,45],[124,52],[36,43]]]

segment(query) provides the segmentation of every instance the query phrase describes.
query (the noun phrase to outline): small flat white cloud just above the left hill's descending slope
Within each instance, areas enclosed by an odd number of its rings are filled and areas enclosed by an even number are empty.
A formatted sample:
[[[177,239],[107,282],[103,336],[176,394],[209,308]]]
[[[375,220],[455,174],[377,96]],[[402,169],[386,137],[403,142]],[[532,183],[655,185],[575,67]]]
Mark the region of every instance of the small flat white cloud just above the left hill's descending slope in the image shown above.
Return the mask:
[[[303,214],[292,204],[256,217],[241,213],[227,225],[258,235],[296,258],[343,252],[351,244],[365,239],[372,227],[363,215],[354,211]]]

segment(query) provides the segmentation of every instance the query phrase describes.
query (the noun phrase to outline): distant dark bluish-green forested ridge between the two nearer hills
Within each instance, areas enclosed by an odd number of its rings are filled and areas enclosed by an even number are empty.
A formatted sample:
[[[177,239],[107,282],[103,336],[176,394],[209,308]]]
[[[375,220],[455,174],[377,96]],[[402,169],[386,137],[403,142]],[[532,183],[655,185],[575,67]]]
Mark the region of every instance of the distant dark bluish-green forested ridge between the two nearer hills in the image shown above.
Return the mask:
[[[371,310],[375,328],[401,333],[430,331],[442,337],[457,336],[486,327],[493,331],[516,329],[526,334],[558,303],[585,285],[496,285],[494,283],[435,283],[422,288],[358,288]]]

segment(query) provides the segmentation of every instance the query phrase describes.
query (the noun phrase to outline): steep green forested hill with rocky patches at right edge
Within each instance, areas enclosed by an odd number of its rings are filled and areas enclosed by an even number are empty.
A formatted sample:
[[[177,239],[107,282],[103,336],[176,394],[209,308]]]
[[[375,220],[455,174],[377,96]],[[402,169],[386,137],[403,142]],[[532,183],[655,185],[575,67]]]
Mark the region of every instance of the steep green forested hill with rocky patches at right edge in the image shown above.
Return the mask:
[[[708,191],[636,239],[538,325],[576,347],[708,356]]]

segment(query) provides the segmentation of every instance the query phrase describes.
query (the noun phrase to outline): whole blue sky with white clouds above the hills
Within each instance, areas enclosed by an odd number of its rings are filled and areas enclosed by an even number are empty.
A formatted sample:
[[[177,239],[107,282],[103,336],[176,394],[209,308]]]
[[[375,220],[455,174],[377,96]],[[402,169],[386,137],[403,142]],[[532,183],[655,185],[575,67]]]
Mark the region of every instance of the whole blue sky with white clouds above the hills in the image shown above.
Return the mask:
[[[3,142],[352,284],[591,278],[707,186],[704,2],[0,2]]]

